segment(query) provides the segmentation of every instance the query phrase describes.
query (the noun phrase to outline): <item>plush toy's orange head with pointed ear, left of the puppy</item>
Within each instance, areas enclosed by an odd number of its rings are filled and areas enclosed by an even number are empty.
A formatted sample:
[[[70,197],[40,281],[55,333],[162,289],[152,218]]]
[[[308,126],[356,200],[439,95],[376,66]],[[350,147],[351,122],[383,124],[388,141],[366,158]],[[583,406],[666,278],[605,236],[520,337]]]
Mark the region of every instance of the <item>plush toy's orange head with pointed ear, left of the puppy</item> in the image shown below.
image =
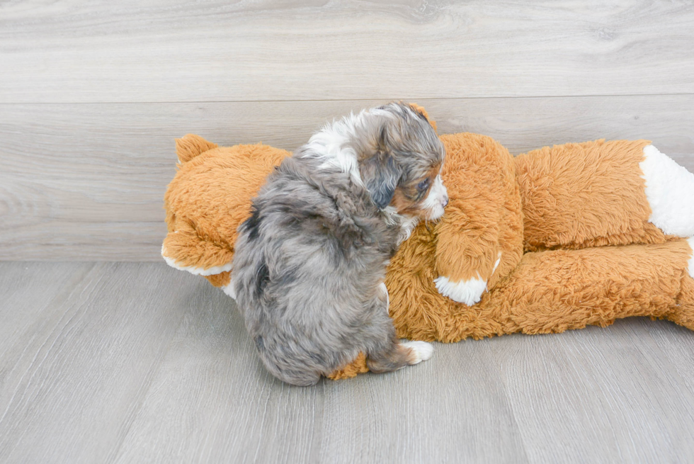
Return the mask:
[[[178,172],[164,196],[169,234],[161,254],[172,266],[224,287],[251,198],[290,152],[262,144],[217,147],[186,135],[176,140],[176,154]]]

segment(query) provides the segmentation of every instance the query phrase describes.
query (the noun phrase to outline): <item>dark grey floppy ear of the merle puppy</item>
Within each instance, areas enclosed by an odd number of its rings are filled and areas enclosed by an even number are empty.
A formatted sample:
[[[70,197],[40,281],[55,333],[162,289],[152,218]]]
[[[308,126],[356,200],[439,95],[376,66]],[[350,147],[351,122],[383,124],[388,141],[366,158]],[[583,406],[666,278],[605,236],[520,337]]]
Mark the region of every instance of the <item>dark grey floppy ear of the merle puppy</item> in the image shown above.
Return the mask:
[[[385,137],[382,134],[381,137]],[[380,142],[383,142],[380,140]],[[361,179],[366,189],[371,194],[371,200],[379,208],[383,209],[390,204],[395,194],[395,188],[400,181],[402,171],[389,154],[385,143],[379,143],[375,154],[364,159],[359,166]]]

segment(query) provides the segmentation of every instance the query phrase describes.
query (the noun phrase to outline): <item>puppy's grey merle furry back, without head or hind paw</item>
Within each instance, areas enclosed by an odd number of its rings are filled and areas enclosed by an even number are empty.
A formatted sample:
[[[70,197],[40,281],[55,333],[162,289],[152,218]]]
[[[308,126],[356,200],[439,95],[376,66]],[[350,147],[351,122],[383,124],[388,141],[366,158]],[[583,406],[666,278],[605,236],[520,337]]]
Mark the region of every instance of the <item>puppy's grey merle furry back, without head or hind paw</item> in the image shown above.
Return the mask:
[[[383,262],[398,228],[340,171],[290,157],[268,177],[239,227],[233,285],[246,328],[268,370],[316,383],[351,361],[368,330]],[[374,240],[373,237],[385,237]]]

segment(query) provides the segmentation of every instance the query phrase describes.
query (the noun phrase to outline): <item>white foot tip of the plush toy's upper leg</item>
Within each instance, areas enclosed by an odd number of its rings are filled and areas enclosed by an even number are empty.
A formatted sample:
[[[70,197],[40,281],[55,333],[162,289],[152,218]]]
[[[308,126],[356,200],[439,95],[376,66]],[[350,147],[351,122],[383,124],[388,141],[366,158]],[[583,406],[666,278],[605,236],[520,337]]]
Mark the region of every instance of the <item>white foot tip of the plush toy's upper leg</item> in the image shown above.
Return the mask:
[[[666,234],[694,235],[694,174],[658,151],[644,148],[639,164],[646,181],[646,198],[652,214],[649,222]]]

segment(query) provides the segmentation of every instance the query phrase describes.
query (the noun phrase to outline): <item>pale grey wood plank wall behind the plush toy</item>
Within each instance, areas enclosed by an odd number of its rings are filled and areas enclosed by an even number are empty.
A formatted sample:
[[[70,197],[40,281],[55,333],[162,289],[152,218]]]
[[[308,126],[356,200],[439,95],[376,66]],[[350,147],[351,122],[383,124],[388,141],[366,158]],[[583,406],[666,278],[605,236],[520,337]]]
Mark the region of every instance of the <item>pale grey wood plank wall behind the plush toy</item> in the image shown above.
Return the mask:
[[[648,138],[694,171],[694,5],[4,2],[0,259],[158,260],[174,137],[295,149],[399,99],[513,153]]]

